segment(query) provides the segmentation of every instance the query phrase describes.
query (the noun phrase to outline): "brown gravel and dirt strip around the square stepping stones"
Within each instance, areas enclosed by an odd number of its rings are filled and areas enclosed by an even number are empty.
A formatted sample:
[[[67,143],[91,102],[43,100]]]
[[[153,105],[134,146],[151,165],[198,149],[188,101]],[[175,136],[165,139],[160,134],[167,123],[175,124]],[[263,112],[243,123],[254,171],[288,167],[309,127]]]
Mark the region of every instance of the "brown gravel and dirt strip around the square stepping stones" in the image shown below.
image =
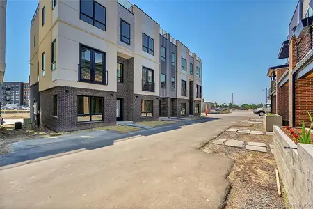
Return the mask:
[[[237,128],[262,130],[262,124]],[[224,155],[234,160],[234,167],[227,178],[232,184],[232,189],[225,208],[287,208],[284,193],[279,196],[277,192],[276,164],[269,148],[269,144],[273,144],[273,136],[224,132],[216,139],[264,142],[268,147],[268,153],[259,153],[243,148],[214,145],[209,141],[202,148],[205,152]]]

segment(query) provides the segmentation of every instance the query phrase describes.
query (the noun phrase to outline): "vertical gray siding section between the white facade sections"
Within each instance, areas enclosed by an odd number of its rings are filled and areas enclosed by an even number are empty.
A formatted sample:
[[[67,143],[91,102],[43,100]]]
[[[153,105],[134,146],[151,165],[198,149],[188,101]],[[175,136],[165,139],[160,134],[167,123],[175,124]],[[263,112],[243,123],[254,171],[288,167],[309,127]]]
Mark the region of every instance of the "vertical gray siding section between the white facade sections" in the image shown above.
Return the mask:
[[[168,35],[169,37],[169,35]],[[161,61],[160,54],[160,68],[161,73],[166,75],[166,88],[161,88],[160,85],[160,97],[161,98],[177,98],[177,86],[175,86],[175,91],[172,91],[171,79],[175,77],[175,82],[177,83],[176,67],[177,67],[177,47],[170,42],[170,40],[164,38],[160,35],[160,45],[166,48],[166,61]],[[161,53],[160,46],[160,53]],[[176,61],[175,66],[172,66],[172,52],[175,53]],[[160,76],[161,84],[161,76]],[[180,87],[180,86],[179,86]]]

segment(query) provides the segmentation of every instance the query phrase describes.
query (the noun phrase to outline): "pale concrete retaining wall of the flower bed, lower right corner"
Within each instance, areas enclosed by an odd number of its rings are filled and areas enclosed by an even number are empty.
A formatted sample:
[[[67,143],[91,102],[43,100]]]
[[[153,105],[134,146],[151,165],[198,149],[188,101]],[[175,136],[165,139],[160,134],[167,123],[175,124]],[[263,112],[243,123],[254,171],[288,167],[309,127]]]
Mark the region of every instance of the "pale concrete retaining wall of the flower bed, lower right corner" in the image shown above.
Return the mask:
[[[274,126],[274,155],[291,208],[313,208],[313,146],[295,144]]]

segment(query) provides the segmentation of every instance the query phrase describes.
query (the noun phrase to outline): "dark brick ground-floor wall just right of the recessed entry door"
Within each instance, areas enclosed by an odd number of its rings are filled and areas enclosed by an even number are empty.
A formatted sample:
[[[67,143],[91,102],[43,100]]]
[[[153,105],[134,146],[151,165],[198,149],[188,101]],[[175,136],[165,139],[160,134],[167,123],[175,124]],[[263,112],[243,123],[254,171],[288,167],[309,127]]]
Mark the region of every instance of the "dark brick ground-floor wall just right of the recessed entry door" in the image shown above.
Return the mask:
[[[134,94],[134,104],[133,104],[133,121],[154,121],[159,120],[160,111],[160,98],[152,95],[141,95]],[[153,116],[148,118],[141,117],[141,100],[153,100]]]

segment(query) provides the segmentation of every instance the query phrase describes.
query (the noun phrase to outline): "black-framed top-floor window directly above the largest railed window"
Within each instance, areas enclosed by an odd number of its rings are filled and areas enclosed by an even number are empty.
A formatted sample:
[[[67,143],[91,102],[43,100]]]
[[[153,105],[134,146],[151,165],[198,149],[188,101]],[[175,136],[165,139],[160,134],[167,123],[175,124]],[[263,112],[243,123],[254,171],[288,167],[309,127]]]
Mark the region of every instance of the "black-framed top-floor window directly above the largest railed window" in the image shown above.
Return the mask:
[[[80,18],[84,22],[106,31],[106,8],[96,1],[81,0]]]

